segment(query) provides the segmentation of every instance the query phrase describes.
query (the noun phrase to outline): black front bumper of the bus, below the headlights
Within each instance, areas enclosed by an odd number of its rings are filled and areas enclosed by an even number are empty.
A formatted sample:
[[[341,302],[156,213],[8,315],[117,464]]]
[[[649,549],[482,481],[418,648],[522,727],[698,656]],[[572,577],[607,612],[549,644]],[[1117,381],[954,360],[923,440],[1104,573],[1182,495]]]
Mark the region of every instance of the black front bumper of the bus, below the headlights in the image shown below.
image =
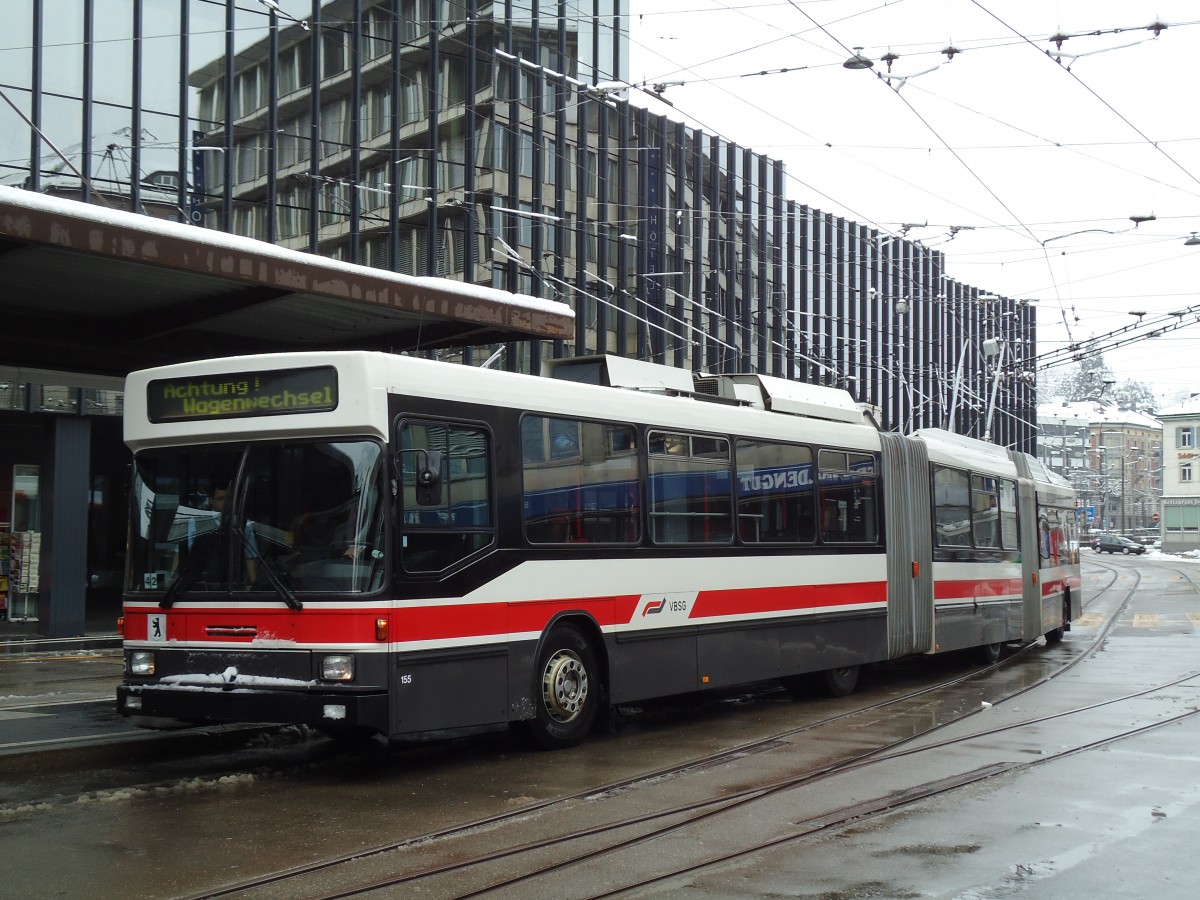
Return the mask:
[[[122,684],[121,715],[185,722],[272,722],[388,732],[383,690],[280,690],[190,684]]]

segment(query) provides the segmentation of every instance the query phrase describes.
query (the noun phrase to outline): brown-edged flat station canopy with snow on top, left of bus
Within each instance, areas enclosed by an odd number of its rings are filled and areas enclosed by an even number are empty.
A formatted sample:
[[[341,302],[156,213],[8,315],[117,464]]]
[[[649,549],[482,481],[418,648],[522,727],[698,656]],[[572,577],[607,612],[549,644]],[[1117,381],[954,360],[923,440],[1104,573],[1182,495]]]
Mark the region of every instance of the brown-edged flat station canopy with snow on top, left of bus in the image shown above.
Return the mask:
[[[0,187],[0,366],[570,340],[566,304]]]

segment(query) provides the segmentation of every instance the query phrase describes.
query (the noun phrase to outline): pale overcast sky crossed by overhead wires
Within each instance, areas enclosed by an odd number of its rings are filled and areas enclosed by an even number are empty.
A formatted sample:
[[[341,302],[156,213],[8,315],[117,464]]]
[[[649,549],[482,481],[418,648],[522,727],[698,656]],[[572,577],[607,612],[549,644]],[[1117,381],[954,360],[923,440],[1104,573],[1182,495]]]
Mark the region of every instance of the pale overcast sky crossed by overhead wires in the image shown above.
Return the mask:
[[[1195,0],[632,0],[632,14],[631,80],[667,84],[674,107],[635,102],[784,160],[791,199],[1037,301],[1040,353],[1132,312],[1192,323],[1104,358],[1165,402],[1200,391]],[[874,68],[842,66],[858,47]],[[888,53],[908,80],[880,78]]]

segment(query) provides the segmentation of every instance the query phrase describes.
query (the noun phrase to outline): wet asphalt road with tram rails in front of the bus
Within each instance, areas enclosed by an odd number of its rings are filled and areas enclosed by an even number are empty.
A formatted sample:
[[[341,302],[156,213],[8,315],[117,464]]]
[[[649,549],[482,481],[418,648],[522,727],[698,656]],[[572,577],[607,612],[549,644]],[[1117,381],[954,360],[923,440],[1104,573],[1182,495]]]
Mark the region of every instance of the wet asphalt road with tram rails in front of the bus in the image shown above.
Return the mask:
[[[940,732],[938,742],[1200,674],[1200,593],[1192,581],[1200,581],[1200,566],[1085,554],[1085,599],[1112,570],[1118,575],[1114,588],[1085,611],[1060,647],[1034,650],[998,680],[940,692],[904,714],[880,713],[865,722],[779,740],[769,751],[706,769],[691,780],[677,779],[662,797],[678,799],[714,784],[732,790],[778,772],[803,770],[846,748],[912,734],[965,709],[982,712]],[[1134,571],[1141,574],[1141,586],[1096,653],[1012,703],[983,708],[986,696],[1033,682],[1091,648],[1105,613],[1120,599],[1118,588],[1132,583]],[[287,730],[223,737],[134,732],[113,714],[119,658],[0,658],[0,846],[7,859],[20,863],[6,868],[0,894],[202,895],[262,872],[593,790],[971,667],[964,660],[886,667],[868,678],[858,695],[839,701],[792,702],[766,694],[664,706],[625,715],[612,732],[559,754],[526,751],[506,732],[344,752]],[[1194,847],[1200,841],[1200,716],[1097,750],[1049,757],[1198,707],[1200,678],[1183,680],[1069,719],[1048,719],[791,791],[703,828],[490,895],[595,896],[634,876],[684,868],[714,848],[733,853],[780,841],[630,895],[1192,898]],[[14,746],[60,737],[71,739],[68,749]],[[1044,764],[1033,768],[787,840],[797,823],[852,799],[886,797],[949,772],[1043,757]],[[659,802],[652,791],[640,798],[643,804]],[[599,802],[575,802],[566,810],[530,815],[521,827],[577,827],[608,815],[604,809]],[[482,830],[474,841],[487,846],[497,835]],[[468,852],[470,844],[462,846],[456,852]],[[438,847],[434,842],[422,852],[436,854]],[[382,857],[376,864],[404,862]],[[378,895],[455,896],[473,883],[463,876],[421,893],[410,886]],[[312,882],[306,890],[317,886]],[[293,887],[254,895],[298,893]]]

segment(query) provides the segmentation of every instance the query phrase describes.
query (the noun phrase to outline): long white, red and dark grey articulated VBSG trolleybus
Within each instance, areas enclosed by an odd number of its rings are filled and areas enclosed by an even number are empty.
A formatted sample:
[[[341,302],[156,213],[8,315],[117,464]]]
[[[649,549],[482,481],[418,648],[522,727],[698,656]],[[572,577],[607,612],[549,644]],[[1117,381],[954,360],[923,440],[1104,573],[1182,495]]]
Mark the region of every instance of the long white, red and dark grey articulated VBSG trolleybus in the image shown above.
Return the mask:
[[[380,353],[128,378],[121,713],[566,746],[612,704],[1045,635],[1074,494],[848,394],[596,356]]]

